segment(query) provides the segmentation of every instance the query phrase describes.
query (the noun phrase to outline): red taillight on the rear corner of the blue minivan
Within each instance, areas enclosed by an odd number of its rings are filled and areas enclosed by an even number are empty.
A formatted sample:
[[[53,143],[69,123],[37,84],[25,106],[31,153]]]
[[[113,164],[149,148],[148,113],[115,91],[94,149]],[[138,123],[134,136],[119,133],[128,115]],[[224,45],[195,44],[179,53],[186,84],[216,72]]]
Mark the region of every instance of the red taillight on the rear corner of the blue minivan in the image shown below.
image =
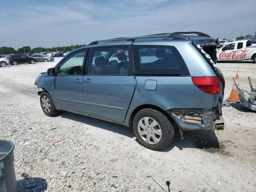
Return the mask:
[[[220,81],[217,77],[192,77],[194,85],[209,94],[220,92]]]

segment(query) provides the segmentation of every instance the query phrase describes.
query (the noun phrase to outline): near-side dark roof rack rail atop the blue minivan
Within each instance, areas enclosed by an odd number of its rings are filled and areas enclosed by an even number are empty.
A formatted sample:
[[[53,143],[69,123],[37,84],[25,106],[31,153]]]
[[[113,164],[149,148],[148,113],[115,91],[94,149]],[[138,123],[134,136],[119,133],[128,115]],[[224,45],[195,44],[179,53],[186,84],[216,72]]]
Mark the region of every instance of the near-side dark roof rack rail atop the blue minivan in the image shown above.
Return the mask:
[[[138,37],[120,37],[120,38],[114,38],[114,39],[106,39],[106,40],[98,40],[93,41],[89,45],[95,45],[102,42],[110,42],[110,41],[134,41],[136,39],[146,39],[146,38],[173,38],[174,40],[190,40],[188,37],[181,35],[181,34],[172,34],[172,33],[162,33],[162,34],[153,34],[153,35],[145,35],[145,36],[138,36]]]

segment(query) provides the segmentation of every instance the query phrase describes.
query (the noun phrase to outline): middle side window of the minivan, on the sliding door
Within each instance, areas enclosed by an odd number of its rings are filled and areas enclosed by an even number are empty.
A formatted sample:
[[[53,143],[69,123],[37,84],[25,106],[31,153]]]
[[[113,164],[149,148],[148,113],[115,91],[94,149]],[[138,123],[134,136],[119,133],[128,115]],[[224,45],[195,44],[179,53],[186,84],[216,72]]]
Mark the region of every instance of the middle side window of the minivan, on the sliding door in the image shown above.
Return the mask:
[[[128,75],[132,70],[129,61],[129,48],[94,48],[90,54],[88,74],[91,75]]]

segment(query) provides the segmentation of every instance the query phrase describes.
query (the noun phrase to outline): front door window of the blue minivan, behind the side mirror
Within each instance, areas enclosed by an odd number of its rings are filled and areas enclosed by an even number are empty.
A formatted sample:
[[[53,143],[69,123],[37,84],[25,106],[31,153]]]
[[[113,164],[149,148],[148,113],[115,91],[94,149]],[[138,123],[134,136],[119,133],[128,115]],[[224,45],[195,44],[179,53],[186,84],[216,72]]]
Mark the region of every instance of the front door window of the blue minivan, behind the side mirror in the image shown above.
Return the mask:
[[[58,76],[82,75],[82,66],[86,50],[81,50],[70,55],[58,66]]]

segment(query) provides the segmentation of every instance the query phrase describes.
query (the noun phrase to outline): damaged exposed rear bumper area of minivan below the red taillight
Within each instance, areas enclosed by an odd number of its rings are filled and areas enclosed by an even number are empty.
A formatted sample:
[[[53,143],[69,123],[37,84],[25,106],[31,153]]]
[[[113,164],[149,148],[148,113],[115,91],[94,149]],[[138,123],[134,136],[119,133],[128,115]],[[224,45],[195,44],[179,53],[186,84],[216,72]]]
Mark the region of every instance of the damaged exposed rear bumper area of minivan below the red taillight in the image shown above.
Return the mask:
[[[179,126],[180,132],[187,130],[214,130],[224,129],[224,119],[216,113],[215,108],[187,109],[175,108],[166,111]]]

